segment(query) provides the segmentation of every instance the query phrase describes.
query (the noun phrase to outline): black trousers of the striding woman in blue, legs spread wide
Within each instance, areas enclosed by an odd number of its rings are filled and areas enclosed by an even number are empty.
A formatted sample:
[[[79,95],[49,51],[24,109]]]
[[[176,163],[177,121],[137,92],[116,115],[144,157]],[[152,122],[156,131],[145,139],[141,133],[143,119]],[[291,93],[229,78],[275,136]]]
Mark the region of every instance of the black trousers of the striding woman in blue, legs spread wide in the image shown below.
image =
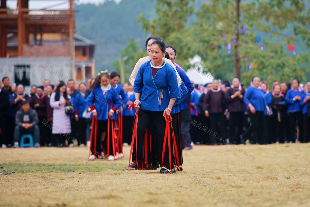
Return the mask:
[[[263,111],[256,111],[255,114],[250,114],[251,123],[250,126],[246,129],[246,131],[242,134],[244,137],[244,141],[246,141],[254,130],[257,131],[258,135],[258,143],[265,144],[267,143],[266,136],[264,135],[265,132],[265,115]]]

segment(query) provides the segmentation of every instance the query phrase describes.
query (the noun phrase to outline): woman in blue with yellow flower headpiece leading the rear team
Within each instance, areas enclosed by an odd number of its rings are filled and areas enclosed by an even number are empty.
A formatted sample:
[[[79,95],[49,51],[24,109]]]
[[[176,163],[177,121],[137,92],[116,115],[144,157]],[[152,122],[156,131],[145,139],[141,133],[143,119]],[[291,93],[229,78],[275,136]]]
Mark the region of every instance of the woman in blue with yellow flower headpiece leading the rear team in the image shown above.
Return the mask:
[[[93,140],[91,141],[92,147],[91,147],[91,156],[89,157],[90,160],[95,159],[95,155],[98,158],[103,158],[104,154],[102,152],[101,148],[101,141],[106,136],[107,126],[108,126],[108,116],[113,116],[114,112],[117,110],[117,107],[113,107],[113,104],[111,106],[111,102],[113,102],[113,98],[110,97],[110,95],[106,98],[108,95],[108,91],[111,90],[111,85],[109,84],[109,75],[108,74],[100,74],[95,79],[94,83],[91,86],[91,94],[86,99],[86,107],[90,108],[90,111],[92,112],[92,115],[94,117],[97,117],[97,131],[96,133],[96,149],[94,149],[94,134],[93,134]],[[112,91],[110,91],[114,96],[117,93],[115,88],[112,88]],[[111,94],[109,92],[109,94]],[[112,95],[112,96],[113,96]],[[119,96],[115,96],[116,98]],[[115,101],[115,103],[118,103],[120,105],[120,99],[118,101]],[[92,126],[94,127],[94,126]],[[94,128],[95,129],[95,128]],[[95,130],[94,130],[95,131]],[[112,143],[112,142],[111,142]],[[113,151],[113,149],[112,149]],[[114,157],[113,157],[114,158]],[[109,159],[112,159],[110,157]]]

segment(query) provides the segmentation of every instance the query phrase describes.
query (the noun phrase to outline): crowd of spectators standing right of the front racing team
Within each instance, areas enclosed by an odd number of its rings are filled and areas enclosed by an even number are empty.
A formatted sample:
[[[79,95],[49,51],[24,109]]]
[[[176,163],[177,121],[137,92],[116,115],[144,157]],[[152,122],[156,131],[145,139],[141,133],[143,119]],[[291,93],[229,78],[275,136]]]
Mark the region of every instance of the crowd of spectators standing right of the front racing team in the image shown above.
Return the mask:
[[[275,80],[270,88],[259,77],[248,88],[237,78],[196,85],[190,100],[192,145],[309,142],[310,82]]]

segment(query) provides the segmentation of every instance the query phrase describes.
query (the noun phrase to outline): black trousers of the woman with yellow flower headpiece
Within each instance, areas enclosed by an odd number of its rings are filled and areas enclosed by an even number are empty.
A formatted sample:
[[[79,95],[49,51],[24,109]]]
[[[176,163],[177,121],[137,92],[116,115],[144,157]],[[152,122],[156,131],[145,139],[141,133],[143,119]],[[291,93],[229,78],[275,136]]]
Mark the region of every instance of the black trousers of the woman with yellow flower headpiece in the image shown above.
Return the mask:
[[[95,123],[94,123],[95,124]],[[97,131],[95,131],[95,126],[91,126],[94,128],[93,130],[93,136],[91,140],[91,154],[99,156],[101,155],[101,134],[107,130],[108,121],[107,120],[97,120]],[[95,149],[95,133],[97,135],[96,137],[96,149]]]

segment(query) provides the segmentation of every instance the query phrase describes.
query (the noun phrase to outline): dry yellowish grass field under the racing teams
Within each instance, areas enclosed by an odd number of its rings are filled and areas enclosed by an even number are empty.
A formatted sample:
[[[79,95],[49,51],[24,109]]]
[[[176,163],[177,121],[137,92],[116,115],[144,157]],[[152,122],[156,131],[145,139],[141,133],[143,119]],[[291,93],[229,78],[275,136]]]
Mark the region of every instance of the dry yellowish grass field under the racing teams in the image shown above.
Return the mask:
[[[194,146],[171,175],[124,170],[129,150],[0,149],[0,206],[310,206],[310,143]]]

